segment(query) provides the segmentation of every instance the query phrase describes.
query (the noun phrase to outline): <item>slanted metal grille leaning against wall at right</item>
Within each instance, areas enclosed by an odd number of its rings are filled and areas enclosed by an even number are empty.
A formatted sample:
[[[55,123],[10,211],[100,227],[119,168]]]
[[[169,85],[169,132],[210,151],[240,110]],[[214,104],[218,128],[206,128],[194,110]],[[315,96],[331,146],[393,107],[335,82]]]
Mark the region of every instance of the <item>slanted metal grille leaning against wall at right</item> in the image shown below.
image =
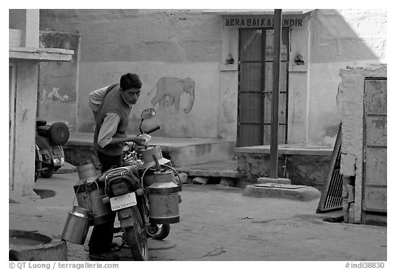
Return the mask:
[[[320,196],[318,210],[316,212],[326,212],[342,208],[342,175],[341,165],[341,124],[338,128],[336,144],[333,148],[331,164],[325,181],[325,190]]]

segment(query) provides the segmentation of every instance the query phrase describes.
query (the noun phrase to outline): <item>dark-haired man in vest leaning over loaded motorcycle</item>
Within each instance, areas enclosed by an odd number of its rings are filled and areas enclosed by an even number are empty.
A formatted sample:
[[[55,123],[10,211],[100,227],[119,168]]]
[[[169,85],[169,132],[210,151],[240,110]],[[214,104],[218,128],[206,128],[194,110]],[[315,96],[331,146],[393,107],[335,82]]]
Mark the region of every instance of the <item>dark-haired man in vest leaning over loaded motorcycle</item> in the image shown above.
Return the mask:
[[[89,94],[89,106],[94,112],[96,128],[94,146],[102,164],[102,172],[112,166],[122,166],[122,146],[124,142],[135,142],[144,146],[145,140],[136,136],[127,136],[129,114],[133,104],[140,96],[139,76],[124,74],[120,84],[110,85]],[[118,256],[109,254],[113,241],[112,222],[95,225],[89,240],[89,257],[94,260],[117,260]]]

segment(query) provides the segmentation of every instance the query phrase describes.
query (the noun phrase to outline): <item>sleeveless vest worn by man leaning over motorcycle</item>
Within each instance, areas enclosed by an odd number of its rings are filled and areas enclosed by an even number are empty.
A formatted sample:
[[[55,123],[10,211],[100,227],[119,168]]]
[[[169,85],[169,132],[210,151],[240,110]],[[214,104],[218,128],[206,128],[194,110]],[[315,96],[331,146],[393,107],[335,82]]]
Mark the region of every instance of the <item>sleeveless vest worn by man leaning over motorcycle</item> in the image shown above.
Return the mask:
[[[98,151],[104,153],[105,155],[117,156],[122,154],[123,144],[107,144],[104,148],[98,145],[98,135],[100,127],[103,124],[104,116],[107,113],[117,113],[120,115],[120,123],[117,127],[117,132],[113,135],[114,138],[126,137],[126,129],[129,123],[129,114],[131,113],[131,108],[122,99],[119,85],[111,85],[107,89],[106,95],[100,104],[100,109],[98,111],[98,116],[96,118],[96,128],[94,135],[94,146]]]

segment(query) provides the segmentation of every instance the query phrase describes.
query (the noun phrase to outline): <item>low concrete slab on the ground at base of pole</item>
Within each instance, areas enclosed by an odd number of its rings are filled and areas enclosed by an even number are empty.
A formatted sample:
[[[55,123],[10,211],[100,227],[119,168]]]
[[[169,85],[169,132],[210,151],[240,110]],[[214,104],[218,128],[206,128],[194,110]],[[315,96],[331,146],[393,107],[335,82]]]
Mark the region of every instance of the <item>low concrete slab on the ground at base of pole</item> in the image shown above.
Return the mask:
[[[257,198],[271,197],[280,199],[294,199],[299,201],[311,201],[320,197],[316,188],[307,185],[286,185],[281,183],[261,183],[246,185],[243,196]]]

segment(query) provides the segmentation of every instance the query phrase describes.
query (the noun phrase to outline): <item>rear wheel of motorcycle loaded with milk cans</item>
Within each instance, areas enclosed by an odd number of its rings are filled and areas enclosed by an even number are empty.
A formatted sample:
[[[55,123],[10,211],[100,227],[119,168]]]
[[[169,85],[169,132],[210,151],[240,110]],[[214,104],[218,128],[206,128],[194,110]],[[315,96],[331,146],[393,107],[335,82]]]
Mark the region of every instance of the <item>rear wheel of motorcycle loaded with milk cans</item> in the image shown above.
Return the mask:
[[[133,207],[134,225],[125,227],[124,236],[134,260],[148,260],[147,238],[139,209]]]

